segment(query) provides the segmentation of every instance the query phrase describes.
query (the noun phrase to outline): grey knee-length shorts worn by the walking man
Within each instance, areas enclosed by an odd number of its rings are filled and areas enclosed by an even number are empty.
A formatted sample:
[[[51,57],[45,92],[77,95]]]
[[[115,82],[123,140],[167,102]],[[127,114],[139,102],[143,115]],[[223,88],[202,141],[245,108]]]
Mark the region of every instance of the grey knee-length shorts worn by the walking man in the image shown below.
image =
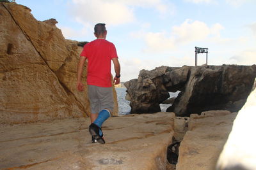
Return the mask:
[[[113,87],[99,87],[88,85],[88,97],[91,106],[91,113],[99,113],[107,109],[113,111]]]

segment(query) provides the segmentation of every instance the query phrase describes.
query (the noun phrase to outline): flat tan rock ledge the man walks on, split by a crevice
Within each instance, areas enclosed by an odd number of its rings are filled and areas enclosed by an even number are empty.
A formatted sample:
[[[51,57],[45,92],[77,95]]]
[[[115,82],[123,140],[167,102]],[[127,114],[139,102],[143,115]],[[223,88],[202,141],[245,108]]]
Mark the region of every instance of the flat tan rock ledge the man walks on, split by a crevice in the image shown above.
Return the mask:
[[[175,169],[179,155],[176,169],[211,170],[236,115],[113,117],[102,127],[105,145],[91,143],[89,118],[1,125],[0,169]],[[173,152],[170,146],[177,141],[180,147]]]

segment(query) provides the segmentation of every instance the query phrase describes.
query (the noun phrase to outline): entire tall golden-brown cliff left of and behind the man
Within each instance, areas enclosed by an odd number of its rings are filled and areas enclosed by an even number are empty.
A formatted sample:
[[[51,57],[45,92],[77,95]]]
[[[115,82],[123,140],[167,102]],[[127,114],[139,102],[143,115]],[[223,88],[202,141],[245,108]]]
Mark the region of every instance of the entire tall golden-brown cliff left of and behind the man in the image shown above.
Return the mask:
[[[0,124],[89,115],[86,90],[76,90],[78,42],[65,39],[56,20],[36,20],[26,6],[0,3],[0,11]],[[115,98],[113,115],[117,110]]]

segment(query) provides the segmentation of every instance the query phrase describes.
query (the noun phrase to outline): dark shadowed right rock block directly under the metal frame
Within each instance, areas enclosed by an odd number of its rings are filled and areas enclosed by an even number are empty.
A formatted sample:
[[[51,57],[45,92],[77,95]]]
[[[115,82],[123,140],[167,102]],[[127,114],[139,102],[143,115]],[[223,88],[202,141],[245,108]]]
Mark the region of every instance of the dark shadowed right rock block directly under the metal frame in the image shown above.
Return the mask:
[[[168,111],[180,116],[207,110],[239,111],[255,76],[255,65],[191,67],[184,91]]]

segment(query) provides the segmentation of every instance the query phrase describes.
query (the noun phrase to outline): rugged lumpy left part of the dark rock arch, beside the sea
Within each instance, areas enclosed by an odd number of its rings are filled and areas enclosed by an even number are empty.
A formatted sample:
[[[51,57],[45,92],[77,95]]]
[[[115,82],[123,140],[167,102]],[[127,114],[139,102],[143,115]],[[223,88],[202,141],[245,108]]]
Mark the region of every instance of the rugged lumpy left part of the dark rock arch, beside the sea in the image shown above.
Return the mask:
[[[141,70],[138,79],[124,83],[127,88],[125,99],[131,101],[131,113],[155,113],[161,111],[159,104],[170,97],[163,85],[163,75],[174,69],[157,67],[152,71]]]

